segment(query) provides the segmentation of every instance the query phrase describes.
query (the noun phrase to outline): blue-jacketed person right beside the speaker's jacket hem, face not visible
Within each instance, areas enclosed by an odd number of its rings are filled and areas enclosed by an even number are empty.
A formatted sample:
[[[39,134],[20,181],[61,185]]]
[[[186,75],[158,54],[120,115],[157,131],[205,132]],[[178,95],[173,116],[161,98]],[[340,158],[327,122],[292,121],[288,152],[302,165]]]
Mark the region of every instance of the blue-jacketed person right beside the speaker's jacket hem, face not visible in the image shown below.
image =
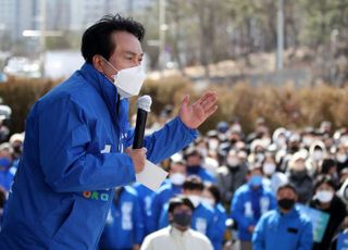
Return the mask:
[[[117,188],[100,237],[99,248],[139,249],[144,237],[144,217],[136,190],[129,186]]]

